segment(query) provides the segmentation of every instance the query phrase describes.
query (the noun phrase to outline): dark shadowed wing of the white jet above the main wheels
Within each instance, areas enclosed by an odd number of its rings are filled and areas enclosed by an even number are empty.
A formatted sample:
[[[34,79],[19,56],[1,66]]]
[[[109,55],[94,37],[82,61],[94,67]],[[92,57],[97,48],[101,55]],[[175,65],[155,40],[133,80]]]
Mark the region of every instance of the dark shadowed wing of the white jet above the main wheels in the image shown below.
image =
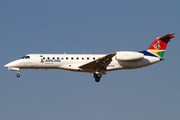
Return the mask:
[[[79,66],[81,69],[94,69],[96,67],[99,67],[100,69],[106,69],[106,67],[111,63],[112,57],[114,57],[116,53],[108,54],[106,56],[103,56],[95,61],[89,62],[87,64],[84,64],[82,66]]]

